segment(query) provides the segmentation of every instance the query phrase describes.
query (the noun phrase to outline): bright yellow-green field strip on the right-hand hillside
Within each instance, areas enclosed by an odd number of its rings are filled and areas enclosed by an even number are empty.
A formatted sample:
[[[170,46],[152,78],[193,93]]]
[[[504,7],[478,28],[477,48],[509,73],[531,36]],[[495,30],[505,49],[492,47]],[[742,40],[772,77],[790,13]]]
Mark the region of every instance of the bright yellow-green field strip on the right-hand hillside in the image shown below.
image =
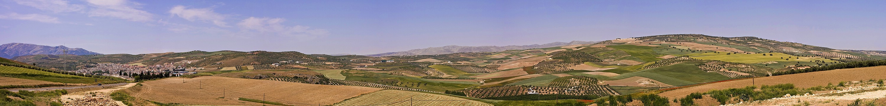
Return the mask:
[[[766,56],[763,56],[766,54]],[[772,54],[773,56],[769,56]],[[742,63],[742,64],[757,64],[763,62],[809,62],[809,61],[824,61],[824,62],[835,62],[834,60],[825,59],[821,57],[799,57],[797,59],[796,56],[791,56],[784,53],[760,53],[760,54],[731,54],[727,55],[727,53],[696,53],[696,54],[688,54],[685,56],[689,56],[696,59],[704,59],[704,60],[719,60],[724,62],[734,62],[734,63]],[[784,57],[784,58],[781,58]],[[789,58],[790,57],[790,58]],[[787,60],[786,60],[787,59]]]

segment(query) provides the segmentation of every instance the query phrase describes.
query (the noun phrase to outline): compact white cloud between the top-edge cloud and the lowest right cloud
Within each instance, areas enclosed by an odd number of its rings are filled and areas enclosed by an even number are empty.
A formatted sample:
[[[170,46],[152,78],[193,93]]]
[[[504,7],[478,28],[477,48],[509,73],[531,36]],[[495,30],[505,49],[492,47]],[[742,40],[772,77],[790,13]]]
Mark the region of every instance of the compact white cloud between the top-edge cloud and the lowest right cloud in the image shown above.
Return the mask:
[[[202,20],[202,21],[211,21],[215,26],[219,27],[229,27],[227,26],[227,22],[223,20],[226,18],[225,15],[216,13],[211,8],[202,8],[202,9],[188,9],[183,5],[176,5],[169,13],[172,13],[173,16],[178,16],[182,19],[188,19],[190,21],[194,20]]]

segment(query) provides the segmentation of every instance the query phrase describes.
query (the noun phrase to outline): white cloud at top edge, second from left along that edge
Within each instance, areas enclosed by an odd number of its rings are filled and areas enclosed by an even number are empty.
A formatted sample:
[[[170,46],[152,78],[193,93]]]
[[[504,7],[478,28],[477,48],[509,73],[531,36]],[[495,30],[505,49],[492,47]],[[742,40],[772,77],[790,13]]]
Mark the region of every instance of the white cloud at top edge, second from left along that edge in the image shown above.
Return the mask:
[[[112,17],[131,21],[152,21],[153,14],[138,10],[138,4],[127,0],[87,0],[90,6],[96,7],[89,11],[89,17]]]

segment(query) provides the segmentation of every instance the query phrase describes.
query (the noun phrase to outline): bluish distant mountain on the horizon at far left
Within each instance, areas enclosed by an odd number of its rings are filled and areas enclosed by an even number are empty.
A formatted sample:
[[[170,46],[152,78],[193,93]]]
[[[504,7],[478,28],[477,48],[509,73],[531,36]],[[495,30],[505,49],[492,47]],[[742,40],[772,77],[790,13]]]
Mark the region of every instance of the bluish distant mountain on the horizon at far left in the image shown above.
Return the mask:
[[[28,43],[6,43],[0,45],[0,57],[4,58],[12,58],[19,56],[29,56],[29,55],[60,55],[65,54],[65,50],[67,49],[67,54],[72,55],[100,55],[100,53],[92,52],[86,49],[81,48],[67,48],[65,46],[43,46],[36,44],[28,44]]]

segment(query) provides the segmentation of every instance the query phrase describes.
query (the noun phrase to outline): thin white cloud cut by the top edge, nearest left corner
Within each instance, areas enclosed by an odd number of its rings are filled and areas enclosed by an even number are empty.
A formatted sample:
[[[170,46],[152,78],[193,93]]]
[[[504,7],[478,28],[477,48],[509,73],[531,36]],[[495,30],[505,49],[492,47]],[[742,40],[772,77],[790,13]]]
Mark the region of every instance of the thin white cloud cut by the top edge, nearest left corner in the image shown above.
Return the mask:
[[[65,0],[13,0],[17,4],[31,6],[43,11],[68,12],[81,11],[82,4],[68,4]]]

